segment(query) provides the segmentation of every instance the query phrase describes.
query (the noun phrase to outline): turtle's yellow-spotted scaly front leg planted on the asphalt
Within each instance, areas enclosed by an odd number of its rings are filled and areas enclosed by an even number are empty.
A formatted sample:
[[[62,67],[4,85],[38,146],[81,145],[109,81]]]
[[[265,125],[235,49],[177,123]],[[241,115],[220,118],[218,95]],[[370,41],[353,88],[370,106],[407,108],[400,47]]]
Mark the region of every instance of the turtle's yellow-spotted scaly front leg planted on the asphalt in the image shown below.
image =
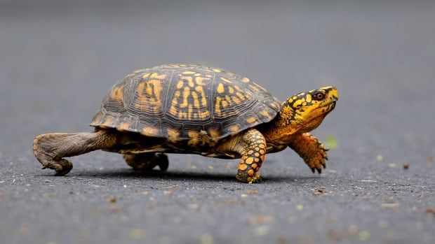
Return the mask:
[[[236,173],[237,180],[248,183],[261,182],[261,175],[258,171],[260,171],[262,162],[265,161],[266,140],[260,131],[250,129],[230,139],[220,149],[221,152],[238,152],[241,155]]]

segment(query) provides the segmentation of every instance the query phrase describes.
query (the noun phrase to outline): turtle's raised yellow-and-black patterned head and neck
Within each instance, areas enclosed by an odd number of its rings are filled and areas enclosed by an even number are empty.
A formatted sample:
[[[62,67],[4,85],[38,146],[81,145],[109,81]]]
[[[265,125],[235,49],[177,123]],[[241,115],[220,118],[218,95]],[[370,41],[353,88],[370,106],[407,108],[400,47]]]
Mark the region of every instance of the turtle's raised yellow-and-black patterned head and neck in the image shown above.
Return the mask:
[[[335,108],[338,90],[321,87],[290,96],[283,102],[280,112],[281,126],[287,135],[312,131]]]

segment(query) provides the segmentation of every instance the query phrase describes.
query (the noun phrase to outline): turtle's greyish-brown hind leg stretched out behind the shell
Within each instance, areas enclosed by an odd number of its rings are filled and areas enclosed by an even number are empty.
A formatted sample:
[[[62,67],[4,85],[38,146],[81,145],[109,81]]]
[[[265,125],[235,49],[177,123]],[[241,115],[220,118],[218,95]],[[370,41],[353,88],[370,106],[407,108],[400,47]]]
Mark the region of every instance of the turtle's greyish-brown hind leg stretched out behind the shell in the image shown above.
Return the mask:
[[[117,143],[112,131],[83,132],[74,134],[42,134],[33,141],[33,152],[44,166],[56,171],[55,175],[65,175],[72,169],[72,163],[63,157],[82,155],[99,149],[109,149]]]

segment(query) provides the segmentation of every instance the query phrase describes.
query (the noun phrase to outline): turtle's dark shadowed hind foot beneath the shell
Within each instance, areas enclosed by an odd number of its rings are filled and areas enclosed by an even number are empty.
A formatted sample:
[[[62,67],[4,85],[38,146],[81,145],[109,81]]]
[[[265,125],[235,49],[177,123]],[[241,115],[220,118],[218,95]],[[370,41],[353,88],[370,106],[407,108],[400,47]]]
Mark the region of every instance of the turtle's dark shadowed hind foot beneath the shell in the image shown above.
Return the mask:
[[[159,166],[161,171],[166,171],[169,166],[168,156],[164,153],[141,153],[138,155],[123,155],[126,163],[137,171],[150,171]]]

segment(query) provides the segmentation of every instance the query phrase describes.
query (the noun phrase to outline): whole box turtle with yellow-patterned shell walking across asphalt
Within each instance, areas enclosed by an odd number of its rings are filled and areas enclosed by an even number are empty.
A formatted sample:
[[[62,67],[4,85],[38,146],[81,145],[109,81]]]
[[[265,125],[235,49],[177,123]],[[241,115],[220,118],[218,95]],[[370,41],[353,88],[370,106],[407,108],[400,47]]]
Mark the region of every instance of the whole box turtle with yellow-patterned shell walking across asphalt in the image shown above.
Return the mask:
[[[312,131],[335,108],[336,87],[300,92],[280,102],[249,78],[197,64],[165,64],[129,73],[104,97],[93,132],[41,134],[36,159],[65,175],[64,157],[117,152],[135,170],[168,168],[167,153],[240,159],[236,179],[261,182],[267,153],[291,148],[312,172],[326,167],[327,149]]]

